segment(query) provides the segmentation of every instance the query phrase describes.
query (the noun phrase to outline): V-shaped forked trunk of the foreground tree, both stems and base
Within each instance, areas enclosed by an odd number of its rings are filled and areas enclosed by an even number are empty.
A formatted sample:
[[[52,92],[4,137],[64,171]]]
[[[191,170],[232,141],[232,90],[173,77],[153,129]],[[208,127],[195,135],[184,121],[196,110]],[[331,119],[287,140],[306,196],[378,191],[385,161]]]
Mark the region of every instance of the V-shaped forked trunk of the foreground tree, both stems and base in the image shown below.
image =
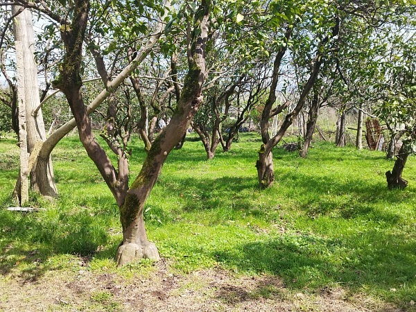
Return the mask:
[[[208,17],[205,15],[205,22],[201,21],[200,35],[193,44],[194,49],[189,53],[190,70],[185,80],[188,87],[187,92],[184,92],[181,98],[180,104],[182,104],[178,105],[177,112],[173,115],[172,125],[165,128],[157,137],[155,144],[150,148],[141,172],[135,182],[133,182],[132,187],[128,189],[127,157],[123,149],[117,148],[117,146],[110,146],[119,159],[119,171],[117,172],[114,166],[112,166],[110,158],[107,157],[105,150],[103,150],[94,137],[83,96],[80,92],[82,87],[80,68],[88,15],[89,1],[76,1],[71,26],[65,25],[60,28],[66,53],[62,64],[60,64],[60,78],[55,80],[53,84],[66,96],[76,121],[80,141],[89,158],[96,164],[98,171],[100,171],[119,206],[121,225],[123,227],[123,243],[119,246],[116,254],[117,263],[121,265],[142,257],[157,260],[159,259],[157,249],[153,243],[148,242],[146,237],[143,220],[144,202],[157,180],[168,153],[182,138],[184,130],[187,129],[191,122],[191,117],[196,112],[200,101],[202,101],[200,94],[205,73],[204,47],[207,39],[206,25]],[[157,29],[159,33],[162,29],[162,23],[157,24]],[[150,40],[156,40],[157,38],[155,37],[157,36],[150,37]],[[137,62],[138,57],[139,55],[137,55],[132,64]],[[202,67],[202,65],[204,66]],[[202,68],[204,71],[202,71]],[[123,72],[125,74],[125,71]],[[171,131],[166,131],[169,129]]]

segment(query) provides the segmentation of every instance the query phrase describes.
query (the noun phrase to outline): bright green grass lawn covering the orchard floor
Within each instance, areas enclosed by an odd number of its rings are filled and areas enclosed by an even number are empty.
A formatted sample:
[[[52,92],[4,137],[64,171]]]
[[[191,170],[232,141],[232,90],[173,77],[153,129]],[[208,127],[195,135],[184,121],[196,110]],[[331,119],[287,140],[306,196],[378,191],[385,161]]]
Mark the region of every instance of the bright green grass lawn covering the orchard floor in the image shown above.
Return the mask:
[[[276,275],[294,290],[342,286],[399,305],[416,301],[415,157],[404,170],[409,186],[388,191],[384,174],[393,162],[383,153],[318,142],[300,159],[275,148],[275,185],[259,191],[259,145],[257,136],[244,134],[231,152],[218,149],[207,162],[202,144],[187,141],[168,157],[145,218],[149,239],[175,274],[220,267]],[[132,149],[131,180],[145,157],[139,141]],[[46,270],[76,270],[79,257],[88,257],[88,270],[151,274],[148,261],[115,268],[118,209],[76,137],[53,151],[60,198],[32,194],[40,208],[33,214],[5,210],[17,176],[15,141],[1,139],[0,155],[3,275],[18,271],[32,279]]]

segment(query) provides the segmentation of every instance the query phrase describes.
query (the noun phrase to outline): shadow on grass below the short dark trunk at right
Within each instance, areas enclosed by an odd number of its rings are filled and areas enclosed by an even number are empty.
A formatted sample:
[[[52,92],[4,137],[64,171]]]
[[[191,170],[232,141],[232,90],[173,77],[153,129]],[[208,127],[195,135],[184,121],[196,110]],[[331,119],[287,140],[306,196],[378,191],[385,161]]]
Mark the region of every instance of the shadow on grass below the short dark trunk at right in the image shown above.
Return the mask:
[[[394,225],[399,222],[401,214],[392,207],[401,202],[416,201],[416,193],[389,191],[379,181],[369,182],[352,176],[340,180],[329,175],[315,177],[290,172],[280,175],[279,182],[286,184],[288,189],[291,186],[297,188],[298,207],[313,217],[335,212],[346,219],[368,216]]]

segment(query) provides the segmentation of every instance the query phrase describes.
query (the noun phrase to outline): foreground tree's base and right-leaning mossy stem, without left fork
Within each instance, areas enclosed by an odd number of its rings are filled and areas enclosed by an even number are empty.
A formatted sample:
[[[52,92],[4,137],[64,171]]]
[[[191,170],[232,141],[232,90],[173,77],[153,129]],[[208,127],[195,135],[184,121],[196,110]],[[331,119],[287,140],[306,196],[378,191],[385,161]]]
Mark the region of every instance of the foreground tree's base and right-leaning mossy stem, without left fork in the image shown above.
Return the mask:
[[[202,103],[202,83],[205,79],[205,44],[208,36],[209,3],[202,0],[203,15],[200,17],[200,32],[188,51],[189,71],[177,110],[157,136],[146,155],[144,164],[135,182],[125,196],[120,207],[123,226],[123,242],[116,254],[118,266],[141,258],[159,259],[154,243],[150,243],[144,228],[143,209],[151,189],[155,184],[166,157],[180,142],[187,131],[193,116]]]

